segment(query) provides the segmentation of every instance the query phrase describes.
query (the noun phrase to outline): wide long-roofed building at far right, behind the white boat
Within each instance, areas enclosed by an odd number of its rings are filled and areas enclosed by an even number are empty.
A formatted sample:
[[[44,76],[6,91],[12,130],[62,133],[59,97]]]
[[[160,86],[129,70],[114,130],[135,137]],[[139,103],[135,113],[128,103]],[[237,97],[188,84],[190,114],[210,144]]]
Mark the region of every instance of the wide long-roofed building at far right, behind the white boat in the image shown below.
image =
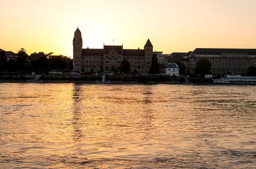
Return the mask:
[[[195,74],[196,62],[200,58],[210,60],[212,74],[230,72],[242,75],[247,73],[250,66],[256,66],[256,49],[197,48],[188,56],[190,74]]]

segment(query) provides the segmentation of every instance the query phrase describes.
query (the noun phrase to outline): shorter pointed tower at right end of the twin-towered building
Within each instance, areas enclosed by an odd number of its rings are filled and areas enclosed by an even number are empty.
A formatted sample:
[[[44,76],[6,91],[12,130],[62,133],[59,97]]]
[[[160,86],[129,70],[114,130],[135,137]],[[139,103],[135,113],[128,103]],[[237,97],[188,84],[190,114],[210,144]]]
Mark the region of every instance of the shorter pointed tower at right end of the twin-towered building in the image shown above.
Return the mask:
[[[144,66],[144,72],[147,73],[149,71],[149,68],[151,66],[151,60],[153,57],[153,45],[147,40],[145,46],[144,46],[144,53],[145,53],[145,66]]]

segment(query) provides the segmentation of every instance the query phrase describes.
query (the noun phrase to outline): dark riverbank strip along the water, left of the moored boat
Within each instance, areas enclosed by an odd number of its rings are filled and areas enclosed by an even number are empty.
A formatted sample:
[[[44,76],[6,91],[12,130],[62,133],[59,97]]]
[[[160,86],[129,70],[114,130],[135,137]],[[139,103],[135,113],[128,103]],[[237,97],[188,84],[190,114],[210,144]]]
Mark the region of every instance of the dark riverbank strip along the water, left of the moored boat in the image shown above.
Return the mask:
[[[40,77],[39,77],[40,76]],[[103,80],[103,81],[102,81]],[[189,80],[189,81],[187,81]],[[15,75],[1,76],[0,83],[99,83],[99,84],[213,84],[211,79],[166,75],[125,76],[63,76],[63,75]]]

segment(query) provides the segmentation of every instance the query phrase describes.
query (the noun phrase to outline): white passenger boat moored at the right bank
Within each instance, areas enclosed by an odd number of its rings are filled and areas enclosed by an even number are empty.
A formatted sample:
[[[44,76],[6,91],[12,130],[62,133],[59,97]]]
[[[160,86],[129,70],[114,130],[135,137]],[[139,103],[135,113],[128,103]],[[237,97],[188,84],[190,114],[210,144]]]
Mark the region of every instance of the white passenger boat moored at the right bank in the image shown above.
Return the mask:
[[[226,75],[219,79],[212,79],[215,84],[256,84],[256,77],[241,75]]]

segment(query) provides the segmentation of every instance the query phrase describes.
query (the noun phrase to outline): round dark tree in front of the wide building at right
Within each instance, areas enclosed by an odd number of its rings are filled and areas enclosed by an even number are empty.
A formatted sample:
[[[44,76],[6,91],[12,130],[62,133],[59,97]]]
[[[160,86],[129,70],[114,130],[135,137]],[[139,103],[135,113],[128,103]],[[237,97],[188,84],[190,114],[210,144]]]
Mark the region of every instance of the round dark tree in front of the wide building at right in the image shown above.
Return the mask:
[[[196,74],[204,76],[205,74],[209,74],[210,73],[211,66],[212,66],[212,63],[210,62],[209,59],[207,59],[207,58],[200,58],[196,62],[195,72],[196,72]]]

